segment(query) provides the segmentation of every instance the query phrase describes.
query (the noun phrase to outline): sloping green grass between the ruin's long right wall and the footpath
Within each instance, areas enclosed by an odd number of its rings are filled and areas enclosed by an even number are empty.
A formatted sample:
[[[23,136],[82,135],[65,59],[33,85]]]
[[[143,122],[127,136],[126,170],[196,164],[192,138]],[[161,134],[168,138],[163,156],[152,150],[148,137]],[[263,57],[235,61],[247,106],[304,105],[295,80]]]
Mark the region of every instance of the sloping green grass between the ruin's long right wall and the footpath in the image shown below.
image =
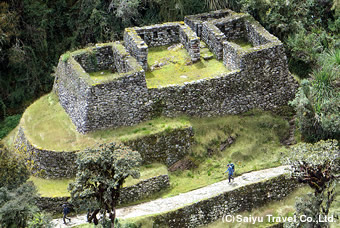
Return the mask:
[[[227,178],[226,164],[235,164],[235,175],[280,165],[285,148],[280,139],[289,129],[287,121],[268,112],[252,111],[239,116],[190,119],[195,132],[191,157],[198,168],[170,175],[171,190],[164,197],[197,189]],[[221,142],[236,141],[223,151]],[[208,153],[210,151],[210,153]]]

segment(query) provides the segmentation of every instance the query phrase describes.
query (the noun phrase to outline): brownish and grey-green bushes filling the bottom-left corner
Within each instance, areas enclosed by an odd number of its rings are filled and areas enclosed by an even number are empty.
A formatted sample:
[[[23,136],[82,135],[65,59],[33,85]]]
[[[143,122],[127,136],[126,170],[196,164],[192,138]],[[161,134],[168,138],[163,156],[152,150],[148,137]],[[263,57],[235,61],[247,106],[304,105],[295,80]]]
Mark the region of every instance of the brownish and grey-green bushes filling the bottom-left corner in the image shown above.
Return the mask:
[[[22,159],[0,144],[0,228],[52,227],[35,206],[37,190],[28,178]]]

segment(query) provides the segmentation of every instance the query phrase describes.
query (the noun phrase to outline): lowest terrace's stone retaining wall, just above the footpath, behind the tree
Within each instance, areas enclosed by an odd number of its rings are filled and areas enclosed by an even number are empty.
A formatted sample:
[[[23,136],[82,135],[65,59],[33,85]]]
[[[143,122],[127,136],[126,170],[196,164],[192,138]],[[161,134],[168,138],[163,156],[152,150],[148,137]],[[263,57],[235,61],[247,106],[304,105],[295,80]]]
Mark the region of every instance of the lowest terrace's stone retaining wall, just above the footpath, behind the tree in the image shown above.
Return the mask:
[[[168,175],[155,176],[143,180],[136,185],[121,189],[118,204],[128,204],[145,199],[155,193],[166,190],[170,187]],[[63,204],[67,203],[70,197],[39,197],[35,202],[40,210],[52,214],[61,214]]]

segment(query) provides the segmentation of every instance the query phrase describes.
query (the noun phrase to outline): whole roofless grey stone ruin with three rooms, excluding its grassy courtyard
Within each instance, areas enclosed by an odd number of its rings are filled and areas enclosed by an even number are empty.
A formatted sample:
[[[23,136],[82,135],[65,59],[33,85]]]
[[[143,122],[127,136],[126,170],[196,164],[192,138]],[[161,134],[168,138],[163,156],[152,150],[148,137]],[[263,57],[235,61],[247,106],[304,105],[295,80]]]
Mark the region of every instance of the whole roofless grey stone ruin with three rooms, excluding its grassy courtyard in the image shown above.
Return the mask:
[[[249,43],[242,48],[238,40]],[[192,62],[203,41],[230,72],[178,85],[148,88],[148,49],[181,43]],[[89,73],[110,70],[94,80]],[[250,15],[219,10],[169,22],[127,28],[123,42],[97,44],[64,54],[54,91],[81,133],[129,126],[163,115],[174,117],[274,110],[294,98],[283,44]]]

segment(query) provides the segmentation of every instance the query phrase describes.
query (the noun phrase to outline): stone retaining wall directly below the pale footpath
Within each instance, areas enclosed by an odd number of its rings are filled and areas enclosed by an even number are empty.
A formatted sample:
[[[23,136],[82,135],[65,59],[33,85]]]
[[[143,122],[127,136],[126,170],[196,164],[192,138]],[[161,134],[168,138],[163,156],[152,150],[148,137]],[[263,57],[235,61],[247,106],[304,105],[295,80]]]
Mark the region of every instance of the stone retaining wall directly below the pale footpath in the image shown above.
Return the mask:
[[[198,227],[224,215],[250,211],[271,201],[280,200],[298,184],[285,175],[224,192],[175,211],[152,216],[153,227]]]

